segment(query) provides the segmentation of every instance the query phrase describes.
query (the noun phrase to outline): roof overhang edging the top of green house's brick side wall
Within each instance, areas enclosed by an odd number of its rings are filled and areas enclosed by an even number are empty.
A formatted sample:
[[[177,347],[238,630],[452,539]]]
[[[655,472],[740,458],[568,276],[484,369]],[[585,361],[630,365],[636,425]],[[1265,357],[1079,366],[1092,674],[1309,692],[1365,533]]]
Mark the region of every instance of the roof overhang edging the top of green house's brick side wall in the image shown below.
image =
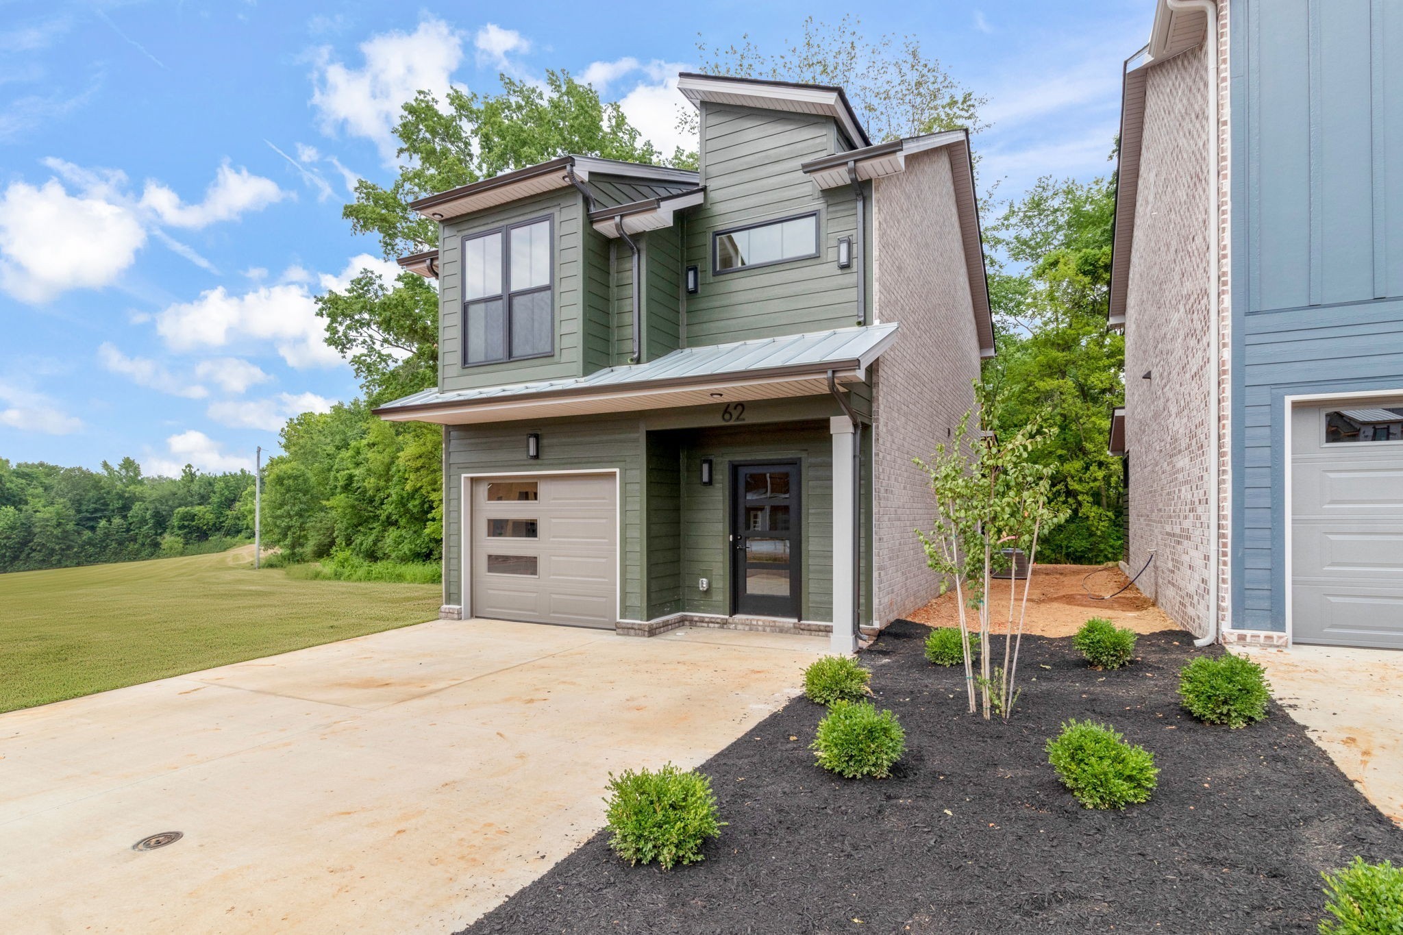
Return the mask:
[[[937,149],[944,149],[950,157],[955,210],[960,214],[960,237],[964,247],[965,269],[969,273],[975,328],[979,334],[979,356],[992,357],[993,310],[989,301],[989,279],[984,265],[984,231],[979,227],[979,205],[974,189],[969,130],[946,130],[877,143],[860,150],[810,160],[800,165],[800,170],[812,178],[819,188],[842,188],[852,185],[853,174],[857,175],[859,181],[898,175],[906,171],[908,157]],[[852,167],[852,174],[849,167]]]

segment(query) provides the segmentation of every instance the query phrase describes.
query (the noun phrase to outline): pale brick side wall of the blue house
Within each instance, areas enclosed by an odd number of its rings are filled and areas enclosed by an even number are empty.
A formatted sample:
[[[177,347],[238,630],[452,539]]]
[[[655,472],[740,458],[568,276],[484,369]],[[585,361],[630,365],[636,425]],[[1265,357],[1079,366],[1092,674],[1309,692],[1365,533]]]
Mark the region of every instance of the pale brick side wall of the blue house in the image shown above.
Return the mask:
[[[1214,542],[1208,292],[1208,48],[1150,67],[1125,310],[1129,566],[1181,627],[1204,634]],[[1145,380],[1149,371],[1152,378]]]

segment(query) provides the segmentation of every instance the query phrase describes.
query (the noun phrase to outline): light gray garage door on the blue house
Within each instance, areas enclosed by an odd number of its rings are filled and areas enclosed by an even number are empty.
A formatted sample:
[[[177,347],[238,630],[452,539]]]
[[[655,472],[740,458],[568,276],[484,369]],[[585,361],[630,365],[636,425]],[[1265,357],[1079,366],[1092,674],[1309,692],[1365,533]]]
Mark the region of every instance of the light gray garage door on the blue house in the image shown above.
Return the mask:
[[[1292,414],[1292,631],[1403,649],[1403,398]]]

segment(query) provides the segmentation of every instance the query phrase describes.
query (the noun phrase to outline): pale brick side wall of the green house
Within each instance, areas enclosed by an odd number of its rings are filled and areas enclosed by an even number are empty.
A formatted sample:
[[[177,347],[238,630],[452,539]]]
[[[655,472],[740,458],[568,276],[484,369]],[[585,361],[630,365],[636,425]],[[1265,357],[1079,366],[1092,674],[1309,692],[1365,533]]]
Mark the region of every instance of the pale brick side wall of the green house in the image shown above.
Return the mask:
[[[946,150],[908,156],[905,172],[877,179],[873,202],[875,315],[901,322],[873,367],[873,564],[885,624],[940,590],[913,531],[930,528],[933,502],[912,458],[929,456],[974,402],[979,338]]]

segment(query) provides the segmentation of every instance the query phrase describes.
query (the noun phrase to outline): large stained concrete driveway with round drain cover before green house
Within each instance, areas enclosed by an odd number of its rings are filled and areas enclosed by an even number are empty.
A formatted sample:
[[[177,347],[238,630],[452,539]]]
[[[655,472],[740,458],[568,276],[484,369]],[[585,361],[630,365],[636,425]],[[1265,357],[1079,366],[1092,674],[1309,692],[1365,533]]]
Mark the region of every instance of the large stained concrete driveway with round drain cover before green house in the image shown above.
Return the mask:
[[[702,763],[825,646],[436,621],[0,715],[0,918],[448,932],[598,830],[609,771]]]

